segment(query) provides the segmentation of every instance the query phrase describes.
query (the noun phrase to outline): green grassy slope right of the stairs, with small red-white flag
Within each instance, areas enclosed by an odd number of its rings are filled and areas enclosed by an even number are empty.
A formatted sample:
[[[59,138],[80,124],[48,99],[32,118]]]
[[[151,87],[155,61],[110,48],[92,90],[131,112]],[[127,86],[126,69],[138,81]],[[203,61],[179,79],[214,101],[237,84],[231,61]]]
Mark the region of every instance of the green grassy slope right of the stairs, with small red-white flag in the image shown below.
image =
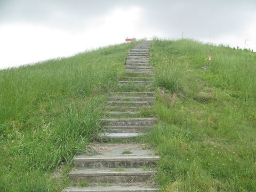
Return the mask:
[[[206,61],[209,50],[186,39],[152,42],[157,181],[167,191],[256,191],[256,54],[213,46]]]

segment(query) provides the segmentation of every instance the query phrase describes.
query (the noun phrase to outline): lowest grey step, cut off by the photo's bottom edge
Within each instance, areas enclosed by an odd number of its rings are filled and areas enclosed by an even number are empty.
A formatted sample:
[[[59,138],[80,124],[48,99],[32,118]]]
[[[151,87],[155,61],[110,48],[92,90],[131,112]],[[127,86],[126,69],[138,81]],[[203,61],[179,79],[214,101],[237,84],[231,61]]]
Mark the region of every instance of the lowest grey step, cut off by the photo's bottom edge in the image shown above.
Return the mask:
[[[62,192],[158,192],[158,188],[138,186],[67,187]]]

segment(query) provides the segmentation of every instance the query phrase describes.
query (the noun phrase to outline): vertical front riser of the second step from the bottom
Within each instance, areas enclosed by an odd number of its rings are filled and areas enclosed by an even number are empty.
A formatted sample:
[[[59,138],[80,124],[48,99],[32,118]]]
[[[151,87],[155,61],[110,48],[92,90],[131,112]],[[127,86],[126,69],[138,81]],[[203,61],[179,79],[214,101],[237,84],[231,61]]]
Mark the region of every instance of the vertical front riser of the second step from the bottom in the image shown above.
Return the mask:
[[[70,180],[74,182],[86,181],[89,183],[126,183],[126,182],[144,182],[151,179],[153,175],[129,175],[129,176],[70,176]]]

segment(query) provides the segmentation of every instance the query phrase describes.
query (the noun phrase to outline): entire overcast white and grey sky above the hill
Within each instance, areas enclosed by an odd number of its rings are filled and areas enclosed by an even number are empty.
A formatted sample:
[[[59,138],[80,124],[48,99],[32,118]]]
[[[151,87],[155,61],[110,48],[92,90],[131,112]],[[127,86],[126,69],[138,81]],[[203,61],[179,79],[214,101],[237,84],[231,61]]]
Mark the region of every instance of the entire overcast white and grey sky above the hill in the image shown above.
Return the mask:
[[[256,0],[0,0],[0,68],[182,32],[256,51]]]

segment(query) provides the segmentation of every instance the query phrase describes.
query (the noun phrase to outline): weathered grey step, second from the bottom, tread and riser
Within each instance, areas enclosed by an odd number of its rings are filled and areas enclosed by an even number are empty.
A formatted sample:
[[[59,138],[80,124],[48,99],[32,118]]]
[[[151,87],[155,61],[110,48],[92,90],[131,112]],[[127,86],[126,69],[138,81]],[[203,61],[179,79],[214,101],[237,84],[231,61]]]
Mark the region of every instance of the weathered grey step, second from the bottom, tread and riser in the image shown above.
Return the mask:
[[[143,182],[151,179],[156,171],[142,171],[140,169],[83,169],[69,173],[74,182],[116,183],[116,182]]]

